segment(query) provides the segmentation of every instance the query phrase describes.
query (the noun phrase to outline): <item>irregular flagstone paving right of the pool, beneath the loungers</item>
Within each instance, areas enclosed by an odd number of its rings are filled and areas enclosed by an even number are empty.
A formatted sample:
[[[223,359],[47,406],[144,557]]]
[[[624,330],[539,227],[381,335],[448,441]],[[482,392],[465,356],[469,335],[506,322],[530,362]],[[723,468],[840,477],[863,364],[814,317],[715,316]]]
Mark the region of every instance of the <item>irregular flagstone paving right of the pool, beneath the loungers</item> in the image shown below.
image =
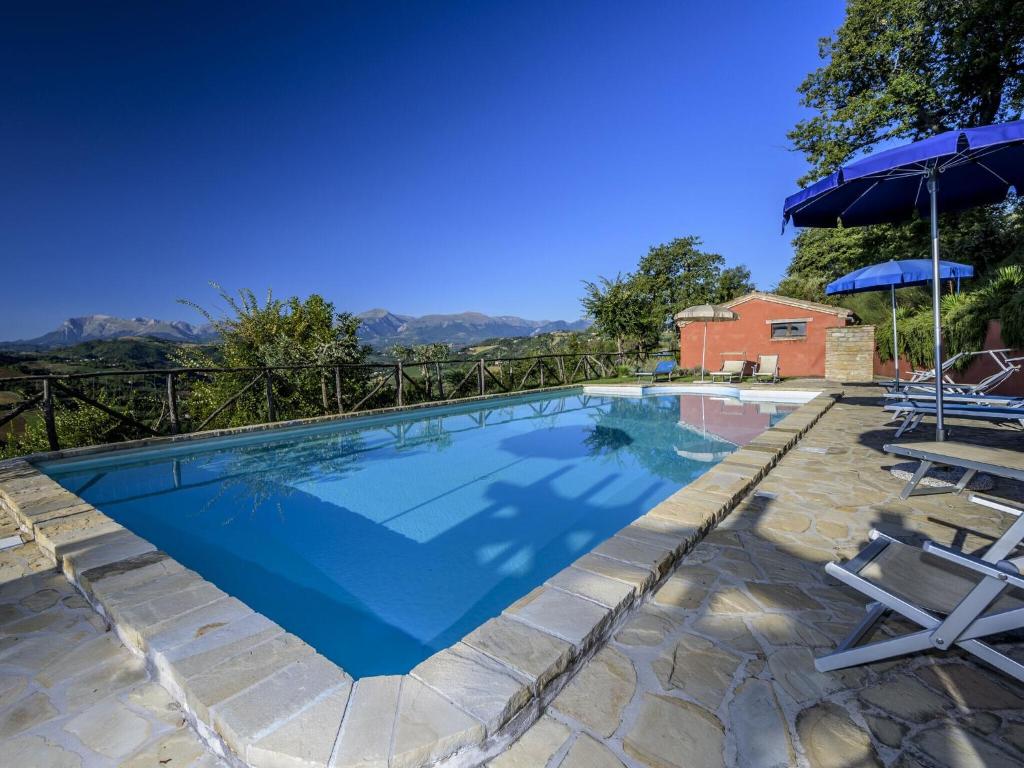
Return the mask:
[[[972,549],[1007,524],[966,497],[900,501],[877,403],[848,389],[492,768],[1022,765],[1024,687],[959,652],[813,669],[861,615],[824,562],[871,527]],[[1020,431],[953,424],[1024,449]],[[1009,481],[991,493],[1024,499]]]

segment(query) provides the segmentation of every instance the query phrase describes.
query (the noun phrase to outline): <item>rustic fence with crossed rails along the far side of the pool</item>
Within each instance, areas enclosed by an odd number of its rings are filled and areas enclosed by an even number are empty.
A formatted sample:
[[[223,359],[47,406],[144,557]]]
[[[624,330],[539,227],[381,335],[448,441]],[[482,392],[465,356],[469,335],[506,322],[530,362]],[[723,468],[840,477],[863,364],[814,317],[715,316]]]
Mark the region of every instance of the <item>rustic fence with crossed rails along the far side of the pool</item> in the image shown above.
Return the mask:
[[[413,362],[308,364],[249,368],[168,368],[0,378],[0,390],[18,397],[0,406],[0,441],[19,417],[41,417],[46,443],[58,451],[56,410],[87,407],[116,426],[77,435],[76,445],[200,432],[219,426],[353,414],[386,407],[452,402],[469,396],[524,392],[613,376],[624,366],[676,352],[565,352],[529,356]],[[203,383],[228,377],[227,396],[197,408],[193,393]],[[223,392],[222,392],[223,394]],[[247,408],[240,409],[246,399]],[[257,402],[259,403],[257,406]],[[256,409],[258,408],[258,415]],[[6,409],[3,413],[2,409]],[[233,414],[239,411],[240,414]],[[38,412],[39,417],[36,416]],[[232,422],[232,417],[237,417]]]

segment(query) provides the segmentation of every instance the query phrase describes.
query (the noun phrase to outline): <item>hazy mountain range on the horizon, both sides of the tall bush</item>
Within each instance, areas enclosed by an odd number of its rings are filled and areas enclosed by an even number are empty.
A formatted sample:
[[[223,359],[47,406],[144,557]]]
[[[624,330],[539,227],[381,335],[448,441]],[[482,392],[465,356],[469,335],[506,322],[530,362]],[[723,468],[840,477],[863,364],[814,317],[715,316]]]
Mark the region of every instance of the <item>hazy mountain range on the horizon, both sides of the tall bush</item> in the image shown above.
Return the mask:
[[[371,309],[358,315],[362,321],[359,339],[378,349],[392,344],[473,344],[484,339],[537,336],[556,331],[583,331],[588,321],[529,321],[509,315],[490,316],[479,312],[461,314],[425,314],[415,317],[395,314],[387,309]],[[105,341],[131,336],[147,336],[167,341],[201,343],[212,341],[216,333],[210,325],[196,326],[184,321],[160,321],[152,317],[113,317],[89,314],[69,317],[60,327],[34,339],[5,342],[4,346],[23,349],[54,349],[84,341]]]

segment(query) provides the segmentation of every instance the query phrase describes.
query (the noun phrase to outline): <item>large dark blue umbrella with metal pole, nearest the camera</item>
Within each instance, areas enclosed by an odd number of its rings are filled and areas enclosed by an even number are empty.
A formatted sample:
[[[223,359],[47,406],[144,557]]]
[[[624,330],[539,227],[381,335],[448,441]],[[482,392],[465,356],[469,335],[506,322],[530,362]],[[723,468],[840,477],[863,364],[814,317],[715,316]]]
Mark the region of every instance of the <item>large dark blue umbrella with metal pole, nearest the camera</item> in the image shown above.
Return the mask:
[[[998,203],[1024,190],[1024,121],[940,133],[843,166],[791,195],[783,226],[860,226],[905,221],[932,225],[932,312],[935,371],[942,370],[938,214]],[[942,387],[935,388],[936,439],[945,438]]]

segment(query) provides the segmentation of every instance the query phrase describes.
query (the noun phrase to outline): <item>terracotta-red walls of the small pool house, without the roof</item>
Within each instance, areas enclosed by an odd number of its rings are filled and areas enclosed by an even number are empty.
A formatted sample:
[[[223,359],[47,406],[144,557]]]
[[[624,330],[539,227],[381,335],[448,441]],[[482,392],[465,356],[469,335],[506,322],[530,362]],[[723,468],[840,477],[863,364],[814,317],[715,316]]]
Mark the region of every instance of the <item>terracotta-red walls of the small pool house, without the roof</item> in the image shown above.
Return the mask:
[[[742,357],[752,365],[760,354],[777,354],[782,376],[825,375],[825,330],[845,326],[843,317],[804,307],[753,298],[732,310],[739,319],[708,324],[708,354],[705,368],[720,371],[727,359]],[[809,319],[802,339],[772,339],[770,321]],[[679,330],[680,367],[700,366],[705,325],[690,323]],[[751,372],[749,367],[748,374]]]

